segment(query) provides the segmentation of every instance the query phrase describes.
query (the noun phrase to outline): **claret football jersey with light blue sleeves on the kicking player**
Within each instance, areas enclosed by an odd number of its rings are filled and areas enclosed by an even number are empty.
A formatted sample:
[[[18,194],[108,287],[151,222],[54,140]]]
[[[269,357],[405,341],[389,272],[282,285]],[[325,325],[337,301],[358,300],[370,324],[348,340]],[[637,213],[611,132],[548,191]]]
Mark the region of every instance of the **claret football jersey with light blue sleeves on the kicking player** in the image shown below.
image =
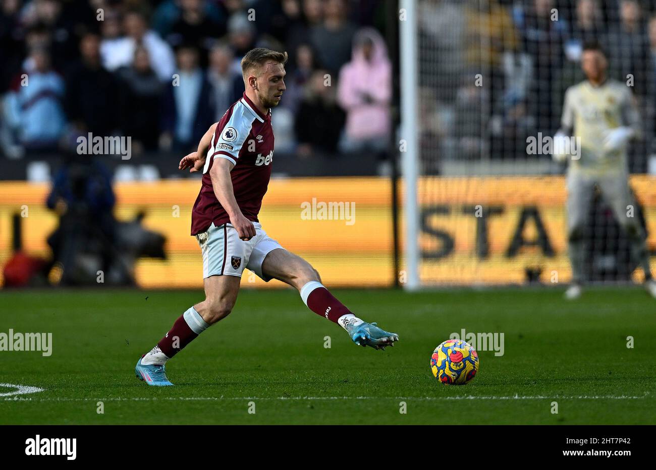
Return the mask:
[[[205,232],[212,223],[230,223],[228,213],[216,199],[209,175],[216,158],[226,158],[234,164],[230,176],[237,205],[247,219],[257,222],[274,159],[271,110],[262,114],[244,93],[218,122],[207,151],[201,190],[192,209],[192,235]]]

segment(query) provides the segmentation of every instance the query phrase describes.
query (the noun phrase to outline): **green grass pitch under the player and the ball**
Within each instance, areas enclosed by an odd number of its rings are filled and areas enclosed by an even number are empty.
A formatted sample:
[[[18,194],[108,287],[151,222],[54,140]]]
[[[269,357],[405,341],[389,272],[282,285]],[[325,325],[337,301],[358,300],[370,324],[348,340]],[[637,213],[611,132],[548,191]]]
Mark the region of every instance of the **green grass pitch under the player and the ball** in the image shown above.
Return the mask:
[[[169,361],[176,386],[154,388],[134,363],[200,291],[2,293],[0,333],[52,333],[52,355],[0,352],[0,383],[45,389],[0,397],[0,424],[656,424],[656,301],[640,289],[335,294],[397,346],[355,346],[295,291],[244,290]],[[445,386],[430,355],[463,328],[504,333],[504,354],[479,351],[478,376]]]

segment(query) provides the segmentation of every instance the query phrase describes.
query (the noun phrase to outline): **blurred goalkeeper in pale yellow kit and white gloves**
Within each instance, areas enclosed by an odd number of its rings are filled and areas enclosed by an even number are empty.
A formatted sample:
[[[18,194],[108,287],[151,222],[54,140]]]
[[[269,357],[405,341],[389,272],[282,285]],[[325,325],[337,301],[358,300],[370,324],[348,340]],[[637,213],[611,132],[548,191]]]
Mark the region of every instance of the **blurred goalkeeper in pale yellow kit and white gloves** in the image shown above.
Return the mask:
[[[606,56],[597,43],[583,47],[581,67],[587,80],[565,92],[561,128],[554,137],[554,158],[571,158],[567,168],[567,239],[572,282],[565,298],[581,296],[583,281],[583,228],[595,185],[613,209],[615,219],[630,239],[632,256],[644,270],[644,286],[656,297],[649,252],[642,226],[633,217],[636,202],[628,186],[626,145],[640,137],[640,117],[628,87],[608,79]],[[579,139],[569,145],[570,137]],[[567,144],[567,145],[565,145]],[[571,149],[577,149],[575,154]]]

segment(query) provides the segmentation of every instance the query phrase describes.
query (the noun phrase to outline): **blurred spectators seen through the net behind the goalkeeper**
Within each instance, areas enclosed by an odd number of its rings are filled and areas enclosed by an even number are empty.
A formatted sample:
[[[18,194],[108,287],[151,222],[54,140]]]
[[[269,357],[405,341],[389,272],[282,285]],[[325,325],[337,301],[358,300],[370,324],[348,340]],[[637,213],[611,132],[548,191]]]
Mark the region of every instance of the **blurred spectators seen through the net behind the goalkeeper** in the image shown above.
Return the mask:
[[[646,169],[656,151],[655,1],[420,0],[418,8],[424,154],[527,158],[527,136],[560,127],[564,92],[584,79],[583,43],[597,41],[610,77],[640,105],[647,137],[632,163]]]

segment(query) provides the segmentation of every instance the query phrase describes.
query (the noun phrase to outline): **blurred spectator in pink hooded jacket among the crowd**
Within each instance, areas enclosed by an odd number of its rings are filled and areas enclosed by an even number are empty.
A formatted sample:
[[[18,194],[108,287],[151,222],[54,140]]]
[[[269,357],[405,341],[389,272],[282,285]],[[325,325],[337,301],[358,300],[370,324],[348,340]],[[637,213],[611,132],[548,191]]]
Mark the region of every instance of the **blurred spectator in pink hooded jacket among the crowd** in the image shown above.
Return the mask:
[[[386,151],[391,98],[392,65],[385,43],[375,29],[361,29],[354,38],[353,58],[339,74],[337,99],[346,111],[340,151]]]

